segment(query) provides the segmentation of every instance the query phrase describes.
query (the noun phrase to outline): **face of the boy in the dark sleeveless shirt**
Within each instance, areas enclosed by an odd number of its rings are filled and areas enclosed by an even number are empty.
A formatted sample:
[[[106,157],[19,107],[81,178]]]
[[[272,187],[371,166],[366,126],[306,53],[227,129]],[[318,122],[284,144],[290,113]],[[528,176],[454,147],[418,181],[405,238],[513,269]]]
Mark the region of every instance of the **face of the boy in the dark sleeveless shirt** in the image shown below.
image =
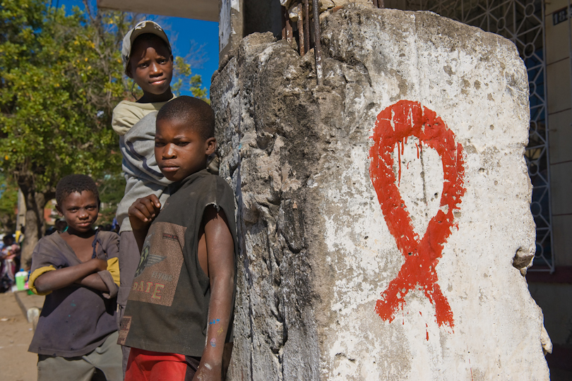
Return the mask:
[[[216,147],[215,138],[204,140],[198,131],[184,122],[157,121],[155,159],[162,174],[170,181],[180,181],[205,169],[207,157],[215,152]]]

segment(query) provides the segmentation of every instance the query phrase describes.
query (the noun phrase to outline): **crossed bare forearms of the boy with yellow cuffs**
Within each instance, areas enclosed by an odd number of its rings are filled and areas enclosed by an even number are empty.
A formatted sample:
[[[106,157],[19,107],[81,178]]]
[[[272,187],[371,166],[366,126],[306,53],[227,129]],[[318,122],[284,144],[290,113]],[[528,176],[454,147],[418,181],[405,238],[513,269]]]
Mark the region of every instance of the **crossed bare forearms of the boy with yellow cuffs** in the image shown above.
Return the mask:
[[[37,277],[34,286],[40,294],[61,289],[73,283],[89,286],[100,291],[109,291],[97,272],[107,270],[107,261],[93,258],[79,265],[62,267],[61,269],[44,272]],[[95,278],[99,279],[99,282]],[[85,279],[88,278],[87,281]],[[83,282],[86,282],[85,284]]]

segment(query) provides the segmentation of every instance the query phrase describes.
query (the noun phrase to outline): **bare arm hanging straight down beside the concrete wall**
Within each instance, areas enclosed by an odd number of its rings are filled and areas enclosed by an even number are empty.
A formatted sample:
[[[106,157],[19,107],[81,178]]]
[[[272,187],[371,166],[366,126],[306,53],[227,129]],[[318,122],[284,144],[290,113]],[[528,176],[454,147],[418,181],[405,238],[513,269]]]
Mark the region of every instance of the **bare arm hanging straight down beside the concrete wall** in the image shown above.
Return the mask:
[[[234,241],[225,212],[208,207],[203,217],[210,279],[207,344],[193,380],[220,380],[222,352],[230,323],[234,291]]]

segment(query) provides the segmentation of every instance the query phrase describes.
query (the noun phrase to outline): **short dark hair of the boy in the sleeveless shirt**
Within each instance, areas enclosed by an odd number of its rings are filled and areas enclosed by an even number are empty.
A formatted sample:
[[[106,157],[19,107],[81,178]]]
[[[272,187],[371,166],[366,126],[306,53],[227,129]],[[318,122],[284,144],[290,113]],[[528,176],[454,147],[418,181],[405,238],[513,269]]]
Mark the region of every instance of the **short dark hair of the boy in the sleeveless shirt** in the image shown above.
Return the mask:
[[[188,95],[167,102],[157,113],[157,121],[181,121],[194,128],[204,140],[215,136],[215,111],[210,104]]]

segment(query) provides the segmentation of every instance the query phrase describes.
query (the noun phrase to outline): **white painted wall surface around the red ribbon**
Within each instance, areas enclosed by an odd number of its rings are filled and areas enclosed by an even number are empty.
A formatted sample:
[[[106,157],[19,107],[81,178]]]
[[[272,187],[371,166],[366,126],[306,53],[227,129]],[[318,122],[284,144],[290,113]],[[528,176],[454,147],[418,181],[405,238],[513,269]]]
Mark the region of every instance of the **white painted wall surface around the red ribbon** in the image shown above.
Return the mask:
[[[513,267],[517,251],[530,257],[535,250],[523,159],[528,81],[516,47],[434,14],[375,11],[364,20],[354,9],[334,13],[323,30],[330,54],[362,63],[371,82],[345,102],[369,132],[351,150],[339,147],[347,151],[338,152],[339,169],[313,179],[336,274],[320,334],[323,380],[549,380],[542,312]],[[369,174],[375,118],[399,99],[436,111],[465,152],[466,192],[436,265],[453,327],[438,325],[419,287],[392,322],[374,310],[405,262]],[[400,156],[398,188],[422,237],[440,207],[443,167],[430,148],[417,157],[415,143],[410,137]]]

